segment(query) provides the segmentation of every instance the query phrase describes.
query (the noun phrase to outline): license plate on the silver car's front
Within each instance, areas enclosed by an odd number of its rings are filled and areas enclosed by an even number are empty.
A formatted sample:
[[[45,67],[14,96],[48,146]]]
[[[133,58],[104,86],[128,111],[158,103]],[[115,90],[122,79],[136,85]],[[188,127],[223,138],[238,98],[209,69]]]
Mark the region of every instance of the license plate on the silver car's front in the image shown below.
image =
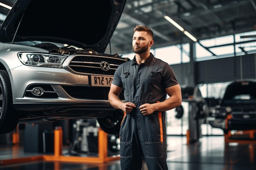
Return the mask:
[[[91,85],[97,87],[110,87],[113,76],[91,75]]]

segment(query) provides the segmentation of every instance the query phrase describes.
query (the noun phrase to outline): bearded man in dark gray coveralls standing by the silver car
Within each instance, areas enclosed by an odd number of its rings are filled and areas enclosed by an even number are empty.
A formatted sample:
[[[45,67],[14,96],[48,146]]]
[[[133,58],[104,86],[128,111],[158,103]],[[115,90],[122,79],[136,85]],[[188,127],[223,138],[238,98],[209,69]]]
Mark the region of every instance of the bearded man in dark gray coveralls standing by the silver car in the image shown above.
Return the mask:
[[[151,29],[137,25],[132,37],[135,57],[117,68],[108,94],[110,104],[124,111],[120,128],[122,170],[141,170],[142,156],[148,170],[168,169],[165,111],[180,106],[182,95],[171,66],[150,53],[153,44]],[[118,97],[122,88],[126,102]]]

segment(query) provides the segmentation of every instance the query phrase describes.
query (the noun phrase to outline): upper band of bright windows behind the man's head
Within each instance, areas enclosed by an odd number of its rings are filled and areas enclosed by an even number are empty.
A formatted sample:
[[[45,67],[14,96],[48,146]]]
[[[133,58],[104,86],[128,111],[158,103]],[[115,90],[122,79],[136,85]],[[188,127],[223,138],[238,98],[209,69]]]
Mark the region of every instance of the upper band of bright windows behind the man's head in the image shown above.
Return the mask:
[[[221,57],[234,57],[256,53],[256,31],[227,35],[218,38],[200,40],[195,42],[195,60],[212,60]],[[251,36],[248,37],[248,36]],[[180,64],[190,62],[190,44],[177,44],[162,48],[151,49],[155,57],[164,60],[168,64]],[[134,53],[121,54],[132,59]]]

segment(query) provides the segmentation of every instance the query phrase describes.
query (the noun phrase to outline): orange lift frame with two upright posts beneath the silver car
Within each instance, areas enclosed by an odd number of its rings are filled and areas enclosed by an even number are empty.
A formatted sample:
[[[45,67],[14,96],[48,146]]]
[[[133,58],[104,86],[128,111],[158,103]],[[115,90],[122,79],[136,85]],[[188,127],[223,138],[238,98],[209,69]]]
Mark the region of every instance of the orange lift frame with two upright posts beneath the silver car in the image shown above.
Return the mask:
[[[17,140],[17,139],[15,139]],[[83,162],[83,163],[104,163],[120,159],[120,155],[108,156],[108,134],[99,128],[98,132],[98,156],[97,157],[78,157],[78,156],[63,156],[63,131],[61,127],[56,127],[54,130],[54,155],[39,155],[33,157],[20,157],[13,159],[0,160],[0,165],[9,165],[14,163],[24,163],[26,161],[57,161],[56,166],[60,166],[59,162]],[[55,165],[55,164],[54,164]]]

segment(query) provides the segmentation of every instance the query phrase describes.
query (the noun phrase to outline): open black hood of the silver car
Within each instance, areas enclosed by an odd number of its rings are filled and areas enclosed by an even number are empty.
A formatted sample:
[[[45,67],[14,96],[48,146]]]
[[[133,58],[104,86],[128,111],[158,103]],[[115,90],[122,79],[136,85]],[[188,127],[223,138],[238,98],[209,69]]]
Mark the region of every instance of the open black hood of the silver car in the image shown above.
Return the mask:
[[[0,41],[57,42],[103,53],[125,2],[17,0],[0,28]]]

